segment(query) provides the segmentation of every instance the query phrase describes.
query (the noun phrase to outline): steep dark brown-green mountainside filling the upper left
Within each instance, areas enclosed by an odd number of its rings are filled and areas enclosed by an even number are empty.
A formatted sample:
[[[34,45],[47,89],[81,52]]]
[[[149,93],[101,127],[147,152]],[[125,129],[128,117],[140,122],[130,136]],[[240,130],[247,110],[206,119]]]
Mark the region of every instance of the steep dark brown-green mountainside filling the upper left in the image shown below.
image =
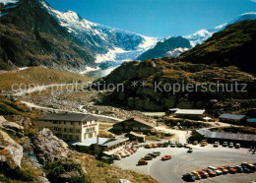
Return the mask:
[[[43,65],[79,71],[95,58],[81,40],[63,29],[38,0],[21,0],[0,17],[0,69]]]

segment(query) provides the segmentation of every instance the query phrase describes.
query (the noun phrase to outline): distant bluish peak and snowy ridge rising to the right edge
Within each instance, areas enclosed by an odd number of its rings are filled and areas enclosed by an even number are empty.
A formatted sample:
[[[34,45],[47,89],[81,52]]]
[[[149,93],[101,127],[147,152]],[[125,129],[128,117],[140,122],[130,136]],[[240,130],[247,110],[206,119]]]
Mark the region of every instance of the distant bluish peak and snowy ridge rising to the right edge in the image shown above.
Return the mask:
[[[152,59],[152,58],[160,58],[163,56],[172,56],[172,57],[177,57],[181,53],[187,51],[189,48],[194,47],[198,44],[203,43],[206,41],[208,38],[210,38],[215,32],[219,32],[221,30],[224,30],[228,25],[232,25],[234,23],[238,23],[244,20],[255,20],[256,19],[256,13],[251,12],[251,13],[245,13],[242,14],[231,21],[218,26],[214,29],[208,29],[208,30],[198,30],[193,34],[183,36],[183,39],[187,39],[187,41],[190,42],[190,44],[186,44],[183,46],[178,47],[177,45],[181,44],[182,42],[176,41],[173,43],[170,41],[170,39],[175,38],[175,37],[168,37],[164,40],[161,40],[157,43],[157,45],[143,53],[138,57],[138,60],[146,60],[146,59]],[[181,39],[180,39],[181,41]],[[184,40],[183,40],[184,41]]]

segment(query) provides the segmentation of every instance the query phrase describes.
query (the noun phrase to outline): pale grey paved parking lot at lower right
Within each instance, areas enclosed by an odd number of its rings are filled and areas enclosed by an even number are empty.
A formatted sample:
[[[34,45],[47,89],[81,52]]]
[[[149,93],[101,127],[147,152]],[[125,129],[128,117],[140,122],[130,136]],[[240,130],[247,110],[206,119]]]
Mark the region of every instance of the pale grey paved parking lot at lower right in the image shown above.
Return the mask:
[[[193,170],[201,170],[208,166],[239,165],[241,162],[256,162],[256,154],[248,152],[248,149],[229,149],[213,145],[206,147],[192,146],[194,152],[188,153],[184,148],[140,148],[136,153],[115,160],[114,164],[123,169],[131,169],[140,173],[150,174],[160,182],[184,182],[182,175]],[[138,160],[149,152],[160,151],[158,157],[149,160],[148,165],[137,165]],[[162,161],[160,157],[164,154],[172,155],[170,160]],[[226,174],[207,179],[196,180],[196,182],[249,182],[256,179],[256,173]]]

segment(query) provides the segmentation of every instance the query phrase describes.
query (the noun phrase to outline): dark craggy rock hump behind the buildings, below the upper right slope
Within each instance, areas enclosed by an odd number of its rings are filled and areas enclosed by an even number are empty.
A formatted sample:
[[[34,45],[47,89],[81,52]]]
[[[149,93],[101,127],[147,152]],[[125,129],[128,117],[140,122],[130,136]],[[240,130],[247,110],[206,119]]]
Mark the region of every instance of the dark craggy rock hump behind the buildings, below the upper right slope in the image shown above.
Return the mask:
[[[115,89],[105,97],[105,101],[133,109],[162,111],[170,107],[206,108],[207,103],[213,98],[255,97],[255,78],[247,73],[240,72],[235,67],[219,68],[185,62],[171,63],[171,59],[164,59],[147,60],[134,66],[133,77],[125,78],[123,83],[118,81],[123,84],[124,91]],[[113,76],[106,77],[105,83],[111,83],[111,78],[118,76],[115,72],[120,71],[119,75],[121,75],[126,70],[122,68],[125,66],[123,65],[114,71]],[[138,82],[135,87],[132,86],[134,81]],[[146,82],[144,87],[141,85],[143,81]],[[116,82],[116,80],[113,80],[113,82]],[[224,85],[233,85],[235,82],[247,84],[247,92],[201,91],[202,89],[199,87],[196,91],[181,90],[174,93],[173,90],[169,91],[168,87],[173,88],[173,85],[176,84],[180,88],[182,88],[182,85],[196,86],[204,84],[209,86],[211,84],[216,85],[218,82]],[[104,83],[104,80],[101,83]]]

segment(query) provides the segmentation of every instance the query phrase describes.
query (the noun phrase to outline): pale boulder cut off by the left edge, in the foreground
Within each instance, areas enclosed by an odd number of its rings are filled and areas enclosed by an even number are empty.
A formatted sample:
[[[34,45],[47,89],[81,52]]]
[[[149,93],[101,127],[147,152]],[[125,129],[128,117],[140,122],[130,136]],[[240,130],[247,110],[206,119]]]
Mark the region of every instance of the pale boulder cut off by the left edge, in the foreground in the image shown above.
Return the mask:
[[[7,169],[20,168],[22,158],[23,147],[0,130],[0,166]]]

